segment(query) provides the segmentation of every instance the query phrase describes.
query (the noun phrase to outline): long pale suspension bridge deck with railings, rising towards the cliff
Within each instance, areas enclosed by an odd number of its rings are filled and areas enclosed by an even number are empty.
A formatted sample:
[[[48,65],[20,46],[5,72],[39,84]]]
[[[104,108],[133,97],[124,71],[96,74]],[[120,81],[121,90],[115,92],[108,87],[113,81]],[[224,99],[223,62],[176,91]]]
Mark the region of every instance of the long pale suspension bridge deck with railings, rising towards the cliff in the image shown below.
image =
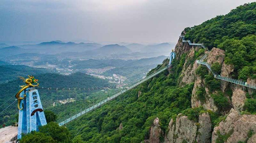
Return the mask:
[[[60,118],[58,119],[56,122],[59,124],[59,126],[62,126],[62,125],[65,125],[67,124],[68,122],[71,122],[72,120],[74,119],[77,119],[78,117],[84,115],[85,113],[88,113],[94,109],[97,109],[99,108],[100,106],[102,106],[103,104],[105,104],[106,102],[108,101],[111,101],[112,99],[118,97],[119,95],[121,95],[122,93],[125,93],[126,91],[136,87],[137,85],[141,84],[142,82],[144,81],[147,81],[148,79],[158,75],[159,73],[163,72],[164,70],[166,70],[168,68],[169,65],[157,70],[156,72],[154,73],[151,73],[150,75],[148,75],[146,78],[138,81],[137,83],[133,84],[132,86],[130,87],[127,87],[126,89],[124,90],[121,90],[121,91],[117,91],[116,93],[114,94],[111,94],[111,95],[108,95],[106,97],[103,97],[101,98],[100,100],[98,100],[97,102],[93,103],[93,104],[90,104],[90,105],[87,105],[86,107],[78,110],[77,112],[74,112],[68,116],[65,116],[63,118]]]

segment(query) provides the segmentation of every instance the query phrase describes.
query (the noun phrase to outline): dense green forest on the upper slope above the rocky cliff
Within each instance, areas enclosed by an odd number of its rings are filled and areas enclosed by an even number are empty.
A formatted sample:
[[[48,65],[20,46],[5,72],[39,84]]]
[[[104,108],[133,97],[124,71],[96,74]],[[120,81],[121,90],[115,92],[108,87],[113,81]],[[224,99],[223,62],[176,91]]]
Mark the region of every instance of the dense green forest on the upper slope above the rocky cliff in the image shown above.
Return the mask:
[[[204,43],[209,50],[225,50],[225,63],[235,67],[233,78],[246,80],[256,73],[256,3],[239,6],[185,31],[191,42]]]

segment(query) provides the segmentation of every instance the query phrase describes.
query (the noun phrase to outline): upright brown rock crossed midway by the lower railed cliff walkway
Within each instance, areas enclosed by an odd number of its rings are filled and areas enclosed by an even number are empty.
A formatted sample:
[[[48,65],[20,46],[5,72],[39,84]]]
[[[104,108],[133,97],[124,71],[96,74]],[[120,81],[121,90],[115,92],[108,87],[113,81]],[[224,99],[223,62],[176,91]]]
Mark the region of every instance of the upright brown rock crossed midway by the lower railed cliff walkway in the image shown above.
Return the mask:
[[[231,77],[231,73],[234,71],[234,65],[227,65],[225,62],[222,63],[220,76]],[[225,91],[229,82],[221,80],[222,92]]]

